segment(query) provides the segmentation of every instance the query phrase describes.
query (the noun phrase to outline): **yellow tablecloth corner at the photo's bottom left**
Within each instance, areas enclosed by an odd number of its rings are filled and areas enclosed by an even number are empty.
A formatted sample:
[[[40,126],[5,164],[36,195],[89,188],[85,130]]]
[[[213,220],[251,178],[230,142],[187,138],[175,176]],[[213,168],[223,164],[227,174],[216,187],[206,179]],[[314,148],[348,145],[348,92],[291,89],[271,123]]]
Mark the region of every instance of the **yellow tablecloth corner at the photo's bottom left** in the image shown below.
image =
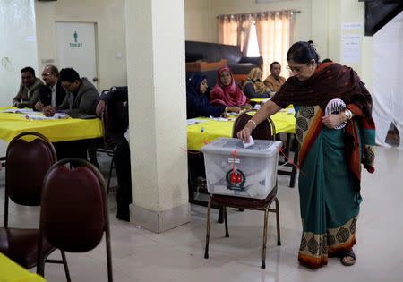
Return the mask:
[[[46,282],[36,273],[30,273],[0,252],[0,282]]]

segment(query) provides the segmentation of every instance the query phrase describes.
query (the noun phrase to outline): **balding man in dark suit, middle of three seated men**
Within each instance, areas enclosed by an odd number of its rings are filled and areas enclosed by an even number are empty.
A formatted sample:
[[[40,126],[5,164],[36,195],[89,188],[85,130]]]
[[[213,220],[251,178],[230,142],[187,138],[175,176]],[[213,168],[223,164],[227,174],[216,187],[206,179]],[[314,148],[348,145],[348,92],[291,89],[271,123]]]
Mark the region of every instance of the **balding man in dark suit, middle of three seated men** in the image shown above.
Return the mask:
[[[45,66],[42,72],[42,80],[45,81],[46,86],[39,93],[35,109],[41,111],[47,105],[52,107],[60,106],[64,101],[65,90],[59,80],[59,70],[55,65],[49,64]]]

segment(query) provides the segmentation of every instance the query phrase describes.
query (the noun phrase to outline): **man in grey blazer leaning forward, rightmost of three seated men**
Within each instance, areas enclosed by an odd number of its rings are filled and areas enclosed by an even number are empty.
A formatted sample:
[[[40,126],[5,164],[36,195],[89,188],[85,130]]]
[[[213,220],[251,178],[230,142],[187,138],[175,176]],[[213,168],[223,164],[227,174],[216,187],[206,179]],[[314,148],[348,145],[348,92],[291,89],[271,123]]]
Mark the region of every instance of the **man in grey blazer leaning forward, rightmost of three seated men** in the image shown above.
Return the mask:
[[[72,68],[60,71],[60,81],[66,91],[63,103],[58,107],[48,105],[43,108],[46,116],[53,116],[62,112],[74,118],[95,118],[95,108],[99,101],[99,94],[95,86],[85,77]]]

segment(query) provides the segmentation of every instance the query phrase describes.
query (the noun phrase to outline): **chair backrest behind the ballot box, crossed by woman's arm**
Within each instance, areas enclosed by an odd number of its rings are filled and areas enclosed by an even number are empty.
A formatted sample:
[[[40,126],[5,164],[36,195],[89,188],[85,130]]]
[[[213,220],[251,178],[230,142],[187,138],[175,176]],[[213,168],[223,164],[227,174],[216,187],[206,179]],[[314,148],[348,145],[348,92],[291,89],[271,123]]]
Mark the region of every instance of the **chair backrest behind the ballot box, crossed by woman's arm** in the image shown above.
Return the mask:
[[[236,138],[236,133],[244,129],[244,126],[252,118],[252,115],[247,114],[252,111],[253,110],[245,111],[236,117],[236,121],[232,127],[233,138]],[[276,136],[276,128],[271,118],[268,117],[261,124],[257,125],[251,135],[253,140],[274,140]]]

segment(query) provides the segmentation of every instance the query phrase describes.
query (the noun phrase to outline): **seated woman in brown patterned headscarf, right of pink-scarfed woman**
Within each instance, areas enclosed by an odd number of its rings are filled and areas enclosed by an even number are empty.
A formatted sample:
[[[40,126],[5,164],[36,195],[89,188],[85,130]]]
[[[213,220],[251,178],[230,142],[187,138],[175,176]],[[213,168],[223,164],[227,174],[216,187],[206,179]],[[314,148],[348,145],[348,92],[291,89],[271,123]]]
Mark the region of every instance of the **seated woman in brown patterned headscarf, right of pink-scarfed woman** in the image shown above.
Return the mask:
[[[269,98],[274,95],[274,92],[263,84],[262,77],[261,68],[255,67],[251,70],[242,87],[247,98]]]

